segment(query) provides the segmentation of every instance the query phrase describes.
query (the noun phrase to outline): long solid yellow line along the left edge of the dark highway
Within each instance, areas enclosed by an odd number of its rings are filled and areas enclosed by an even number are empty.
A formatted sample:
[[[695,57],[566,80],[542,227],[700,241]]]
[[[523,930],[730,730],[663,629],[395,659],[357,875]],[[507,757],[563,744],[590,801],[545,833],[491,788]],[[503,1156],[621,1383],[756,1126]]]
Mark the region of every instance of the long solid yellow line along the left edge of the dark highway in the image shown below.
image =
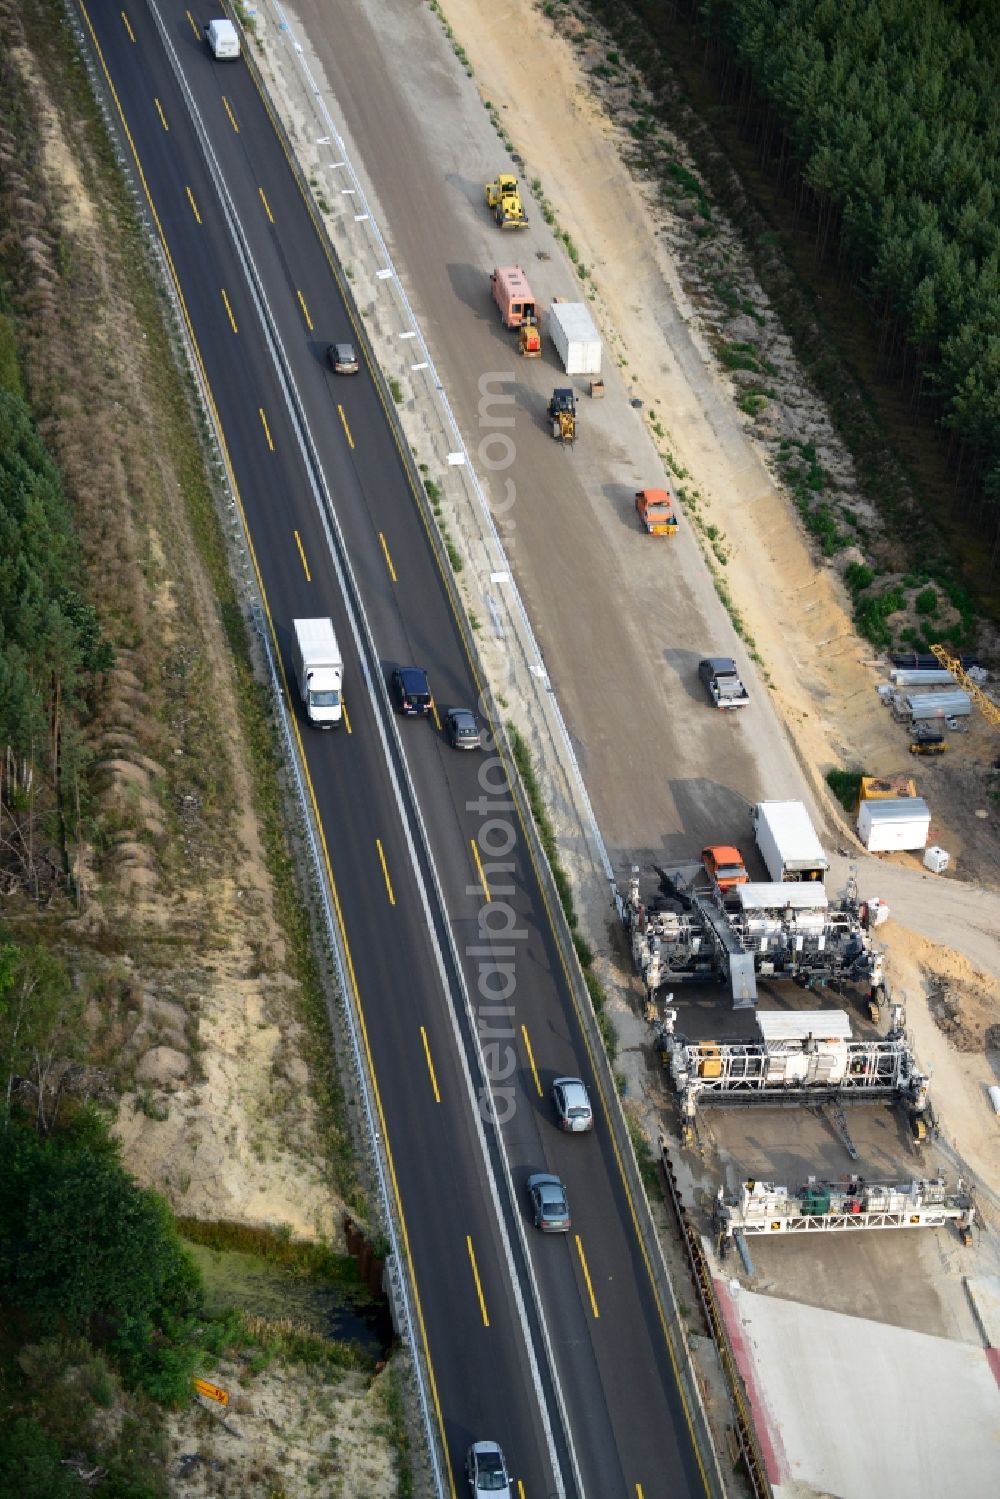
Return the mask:
[[[258,559],[256,559],[256,550],[253,547],[253,540],[252,540],[252,537],[249,534],[249,525],[246,522],[246,513],[243,510],[243,496],[240,495],[240,489],[238,489],[238,484],[235,481],[235,474],[234,474],[234,469],[232,469],[232,460],[229,457],[229,450],[228,450],[228,445],[226,445],[225,432],[223,432],[222,423],[219,421],[219,412],[217,412],[217,408],[216,408],[214,391],[211,388],[211,384],[210,384],[207,372],[205,372],[204,358],[201,355],[201,346],[199,346],[198,339],[195,336],[193,324],[190,321],[190,313],[187,310],[187,301],[184,298],[184,291],[183,291],[181,283],[180,283],[180,276],[177,274],[177,267],[174,265],[174,258],[172,258],[172,255],[169,252],[169,243],[166,240],[166,234],[163,232],[163,225],[162,225],[160,216],[159,216],[159,213],[156,210],[156,202],[153,199],[153,193],[150,192],[150,184],[148,184],[148,180],[145,177],[145,171],[142,168],[142,159],[139,156],[138,147],[136,147],[135,139],[132,136],[132,130],[129,129],[129,121],[126,118],[124,108],[121,105],[121,99],[118,97],[117,88],[114,87],[114,79],[111,76],[111,70],[108,67],[108,61],[106,61],[106,58],[103,55],[103,49],[102,49],[100,42],[97,39],[97,33],[94,30],[94,24],[93,24],[93,21],[90,18],[90,10],[87,7],[87,0],[79,0],[79,10],[81,10],[81,15],[82,15],[84,22],[87,25],[87,31],[90,33],[90,43],[91,43],[91,46],[94,49],[94,55],[96,55],[97,61],[100,63],[100,72],[103,73],[105,82],[108,84],[108,91],[111,94],[111,99],[114,100],[114,106],[115,106],[118,118],[121,121],[121,129],[124,132],[124,138],[129,142],[129,150],[132,151],[132,160],[135,162],[135,169],[136,169],[139,183],[142,184],[142,193],[144,193],[145,201],[147,201],[147,204],[150,207],[150,216],[153,219],[153,223],[156,225],[156,232],[159,235],[160,246],[163,247],[163,258],[166,261],[166,268],[169,271],[171,282],[174,283],[174,289],[177,291],[177,301],[178,301],[178,306],[181,309],[181,316],[184,319],[184,327],[187,328],[187,336],[190,339],[190,346],[192,346],[192,349],[195,352],[195,360],[196,360],[198,367],[199,367],[201,375],[202,375],[205,397],[207,397],[208,406],[211,409],[213,418],[216,421],[216,429],[219,432],[219,441],[220,441],[222,453],[223,453],[225,463],[226,463],[226,472],[228,472],[229,481],[232,484],[232,493],[235,496],[235,502],[237,502],[237,507],[240,510],[243,526],[246,529],[247,549],[249,549],[249,553],[250,553],[250,564],[253,567],[253,576],[256,577],[258,588],[261,589],[261,598],[264,601],[264,615],[267,618],[267,628],[270,630],[271,645],[277,651],[277,634],[274,631],[274,621],[271,618],[271,609],[270,609],[270,603],[268,603],[268,598],[267,598],[267,589],[264,588],[264,579],[261,576],[261,568],[259,568],[259,564],[258,564]],[[187,19],[190,21],[190,27],[193,30],[195,36],[201,36],[201,31],[198,30],[190,10],[187,12]],[[274,111],[270,106],[270,100],[267,99],[265,94],[261,94],[259,90],[258,90],[258,94],[261,97],[261,106],[265,109],[267,117],[271,121],[271,126],[274,127],[274,135],[276,135],[279,144],[283,148],[282,136],[280,136],[280,132],[277,130],[277,120],[274,117]],[[288,151],[285,151],[285,156],[288,157]],[[291,165],[292,163],[289,160],[289,166]],[[306,207],[309,208],[307,199],[306,199]],[[313,219],[313,223],[315,223],[315,219]],[[337,282],[337,285],[340,285],[340,279],[337,277],[337,271],[336,271],[336,264],[330,259],[328,252],[327,252],[327,262],[331,267],[331,274],[333,274],[334,280]],[[282,682],[285,685],[285,690],[288,691],[288,682],[285,681],[285,669],[282,666],[280,655],[277,657],[277,663],[279,663],[279,670],[282,673]],[[319,842],[321,842],[321,847],[322,847],[322,862],[324,862],[324,868],[327,871],[327,881],[328,881],[328,886],[330,886],[330,892],[333,895],[333,907],[334,907],[334,913],[336,913],[336,919],[337,919],[337,931],[340,932],[340,943],[342,943],[342,947],[343,947],[343,959],[345,959],[346,968],[348,968],[348,980],[349,980],[348,988],[349,988],[351,1004],[352,1004],[354,1013],[357,1016],[358,1028],[361,1031],[361,1043],[364,1046],[366,1069],[367,1069],[367,1075],[369,1075],[369,1079],[370,1079],[370,1084],[372,1084],[372,1094],[375,1097],[375,1109],[376,1109],[378,1121],[379,1121],[379,1126],[381,1126],[381,1130],[382,1130],[382,1141],[384,1141],[384,1145],[385,1145],[385,1162],[387,1162],[387,1166],[388,1166],[388,1175],[390,1175],[391,1186],[393,1186],[393,1201],[396,1202],[396,1210],[397,1210],[397,1214],[399,1214],[399,1228],[400,1228],[400,1234],[402,1234],[402,1238],[403,1238],[403,1256],[405,1256],[406,1262],[411,1267],[414,1267],[412,1250],[411,1250],[411,1246],[409,1246],[409,1226],[406,1223],[406,1214],[403,1211],[403,1196],[402,1196],[402,1192],[399,1190],[399,1175],[396,1172],[396,1157],[393,1154],[393,1147],[391,1147],[391,1141],[390,1141],[390,1136],[388,1136],[388,1126],[385,1123],[385,1109],[382,1106],[382,1091],[379,1088],[378,1073],[375,1072],[375,1058],[372,1055],[372,1042],[370,1042],[369,1030],[367,1030],[367,1018],[366,1018],[366,1013],[364,1013],[364,1004],[361,1001],[361,991],[360,991],[357,973],[355,973],[355,968],[354,968],[354,955],[351,952],[351,943],[348,941],[348,929],[346,929],[346,923],[345,923],[345,919],[343,919],[343,908],[340,905],[340,892],[337,889],[337,881],[333,877],[333,865],[330,862],[330,847],[328,847],[328,842],[327,842],[327,830],[325,830],[325,827],[322,824],[322,818],[319,815],[319,803],[316,802],[316,790],[315,790],[315,787],[312,784],[312,776],[309,775],[309,764],[306,761],[306,748],[303,745],[303,739],[301,739],[301,733],[300,733],[300,729],[298,729],[298,720],[297,718],[292,718],[292,733],[295,735],[295,744],[298,745],[298,763],[303,767],[303,776],[304,776],[304,781],[306,781],[306,788],[309,791],[309,800],[310,800],[310,805],[312,805],[312,809],[313,809],[313,817],[316,818],[316,826],[319,829]],[[454,1471],[451,1468],[451,1457],[450,1457],[450,1453],[448,1453],[448,1441],[447,1441],[445,1424],[444,1424],[444,1412],[441,1409],[441,1396],[438,1393],[438,1376],[435,1373],[433,1360],[430,1357],[430,1340],[427,1339],[427,1324],[426,1324],[426,1319],[424,1319],[423,1298],[420,1295],[420,1282],[417,1279],[415,1267],[411,1270],[411,1279],[412,1279],[412,1288],[414,1288],[414,1310],[417,1313],[417,1325],[420,1328],[420,1342],[423,1345],[424,1360],[426,1360],[426,1366],[427,1366],[427,1379],[430,1382],[430,1399],[433,1402],[435,1417],[436,1417],[436,1421],[438,1421],[438,1433],[441,1436],[441,1451],[444,1453],[445,1466],[447,1466],[448,1492],[451,1495],[451,1499],[457,1499],[457,1490],[456,1490],[456,1486],[454,1486]],[[652,1279],[652,1276],[651,1276],[651,1279]],[[666,1325],[664,1325],[664,1330],[666,1330]],[[673,1349],[672,1349],[672,1355],[673,1355]],[[676,1361],[675,1361],[675,1369],[676,1369]],[[678,1381],[679,1381],[679,1373],[678,1373]],[[685,1411],[687,1411],[687,1405],[685,1405]],[[690,1421],[690,1417],[688,1417],[688,1421]],[[700,1459],[700,1451],[697,1450],[697,1447],[696,1447],[696,1451],[699,1453],[699,1463],[700,1463],[702,1459]],[[702,1472],[705,1472],[703,1466],[702,1466]],[[708,1480],[705,1481],[705,1492],[708,1495]]]

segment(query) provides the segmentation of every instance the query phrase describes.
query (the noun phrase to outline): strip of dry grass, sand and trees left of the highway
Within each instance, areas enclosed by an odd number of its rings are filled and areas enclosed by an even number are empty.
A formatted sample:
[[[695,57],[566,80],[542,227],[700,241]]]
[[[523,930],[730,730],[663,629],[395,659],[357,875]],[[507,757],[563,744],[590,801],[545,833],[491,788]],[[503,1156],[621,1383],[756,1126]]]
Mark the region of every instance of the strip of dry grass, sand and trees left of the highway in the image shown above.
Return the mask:
[[[186,1247],[256,1214],[354,1303],[367,1199],[193,390],[57,6],[0,0],[0,1493],[159,1499],[178,1451],[391,1493],[370,1354],[207,1309]],[[214,1451],[192,1378],[276,1369],[283,1450],[244,1394]]]

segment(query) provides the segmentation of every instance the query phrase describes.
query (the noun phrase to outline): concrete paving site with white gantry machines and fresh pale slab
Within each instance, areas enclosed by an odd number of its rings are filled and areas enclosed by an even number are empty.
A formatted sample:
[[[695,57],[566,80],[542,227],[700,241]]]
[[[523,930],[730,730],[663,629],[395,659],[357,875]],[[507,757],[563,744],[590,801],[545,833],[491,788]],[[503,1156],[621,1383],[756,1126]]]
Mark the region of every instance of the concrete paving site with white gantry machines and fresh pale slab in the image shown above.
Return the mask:
[[[669,1196],[744,1397],[733,1453],[754,1493],[874,1493],[891,1465],[843,1430],[880,1403],[925,1457],[913,1492],[990,1492],[972,1438],[996,1406],[1000,1262],[892,997],[891,908],[856,865],[835,886],[802,803],[751,826],[753,850],[633,866],[613,892]],[[900,1381],[907,1358],[942,1384]],[[820,1441],[817,1409],[837,1412]],[[961,1480],[925,1435],[943,1421],[970,1438]]]

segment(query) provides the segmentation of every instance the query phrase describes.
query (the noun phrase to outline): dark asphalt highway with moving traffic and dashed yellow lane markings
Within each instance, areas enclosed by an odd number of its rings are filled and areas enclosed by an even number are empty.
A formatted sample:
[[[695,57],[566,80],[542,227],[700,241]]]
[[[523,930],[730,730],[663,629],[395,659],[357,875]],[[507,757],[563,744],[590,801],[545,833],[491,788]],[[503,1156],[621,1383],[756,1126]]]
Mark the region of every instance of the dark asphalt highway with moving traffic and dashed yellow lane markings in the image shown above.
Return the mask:
[[[700,1493],[661,1310],[544,901],[501,761],[436,720],[396,720],[394,664],[438,711],[472,706],[465,652],[378,382],[325,364],[361,343],[243,63],[216,63],[175,3],[93,6],[114,93],[183,300],[285,663],[381,1100],[433,1406],[463,1486],[498,1439],[525,1499]],[[196,18],[201,22],[201,16]],[[316,733],[291,622],[330,615],[346,723]],[[475,1015],[475,1022],[472,1019]],[[502,1127],[477,1093],[490,1076]],[[549,1087],[583,1076],[594,1135],[555,1127]],[[496,1091],[499,1090],[499,1091]],[[508,1090],[508,1091],[505,1091]],[[507,1117],[510,1115],[510,1117]],[[541,1237],[525,1180],[562,1177],[573,1231]]]

